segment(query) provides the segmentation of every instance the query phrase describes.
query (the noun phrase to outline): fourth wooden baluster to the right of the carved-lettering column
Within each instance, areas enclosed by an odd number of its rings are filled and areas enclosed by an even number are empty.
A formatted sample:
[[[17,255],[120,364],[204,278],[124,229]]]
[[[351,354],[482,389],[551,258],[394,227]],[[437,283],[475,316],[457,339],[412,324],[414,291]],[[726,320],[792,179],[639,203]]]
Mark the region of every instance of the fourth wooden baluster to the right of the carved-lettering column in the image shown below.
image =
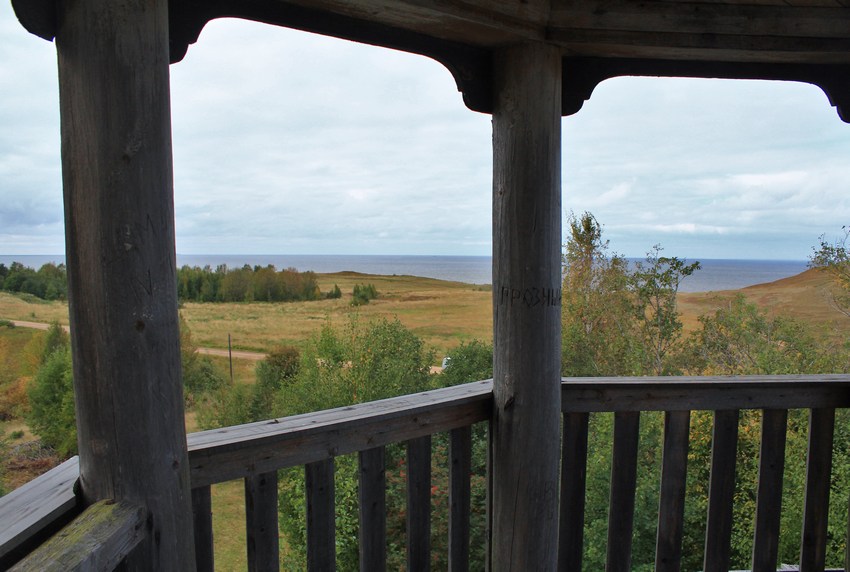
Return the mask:
[[[705,572],[729,570],[737,452],[738,410],[715,411],[703,560]]]

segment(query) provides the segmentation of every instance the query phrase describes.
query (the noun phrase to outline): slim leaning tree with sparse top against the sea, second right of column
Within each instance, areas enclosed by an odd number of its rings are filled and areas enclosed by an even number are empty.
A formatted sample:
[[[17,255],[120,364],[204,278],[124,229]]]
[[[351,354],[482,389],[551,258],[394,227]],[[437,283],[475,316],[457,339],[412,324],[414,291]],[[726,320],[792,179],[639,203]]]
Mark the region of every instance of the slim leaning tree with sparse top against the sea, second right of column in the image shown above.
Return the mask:
[[[675,256],[661,256],[656,244],[638,262],[629,282],[634,292],[634,311],[641,340],[642,374],[669,375],[668,354],[682,335],[682,321],[676,307],[676,295],[682,280],[700,268],[699,262],[686,264]]]

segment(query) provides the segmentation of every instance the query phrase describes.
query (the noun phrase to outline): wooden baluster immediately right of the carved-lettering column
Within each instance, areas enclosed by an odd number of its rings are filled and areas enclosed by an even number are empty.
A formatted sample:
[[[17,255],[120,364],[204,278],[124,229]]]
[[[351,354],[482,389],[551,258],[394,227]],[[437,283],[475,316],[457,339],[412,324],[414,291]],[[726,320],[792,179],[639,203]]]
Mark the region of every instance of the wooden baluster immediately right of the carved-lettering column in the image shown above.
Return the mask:
[[[561,510],[558,570],[581,570],[584,549],[584,501],[587,484],[588,413],[564,414],[561,446]]]

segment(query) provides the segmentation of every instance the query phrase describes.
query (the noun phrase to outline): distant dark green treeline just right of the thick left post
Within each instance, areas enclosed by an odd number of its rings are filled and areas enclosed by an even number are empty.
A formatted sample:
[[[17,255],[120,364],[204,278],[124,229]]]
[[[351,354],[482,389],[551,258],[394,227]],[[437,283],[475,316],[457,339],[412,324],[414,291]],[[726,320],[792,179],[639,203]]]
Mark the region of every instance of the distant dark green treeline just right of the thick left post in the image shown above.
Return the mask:
[[[276,270],[271,264],[233,269],[221,264],[215,270],[182,266],[177,270],[181,302],[296,302],[325,297],[312,271]]]

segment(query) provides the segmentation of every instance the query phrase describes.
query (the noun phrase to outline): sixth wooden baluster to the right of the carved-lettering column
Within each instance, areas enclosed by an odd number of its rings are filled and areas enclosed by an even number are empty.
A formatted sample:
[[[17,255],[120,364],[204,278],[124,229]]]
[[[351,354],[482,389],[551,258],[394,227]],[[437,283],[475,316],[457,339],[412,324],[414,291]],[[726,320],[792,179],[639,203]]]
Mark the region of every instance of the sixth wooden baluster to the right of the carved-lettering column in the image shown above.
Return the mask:
[[[800,572],[823,570],[826,560],[829,481],[835,409],[812,409],[809,414],[809,451],[806,456],[806,498],[803,502],[803,538]]]

